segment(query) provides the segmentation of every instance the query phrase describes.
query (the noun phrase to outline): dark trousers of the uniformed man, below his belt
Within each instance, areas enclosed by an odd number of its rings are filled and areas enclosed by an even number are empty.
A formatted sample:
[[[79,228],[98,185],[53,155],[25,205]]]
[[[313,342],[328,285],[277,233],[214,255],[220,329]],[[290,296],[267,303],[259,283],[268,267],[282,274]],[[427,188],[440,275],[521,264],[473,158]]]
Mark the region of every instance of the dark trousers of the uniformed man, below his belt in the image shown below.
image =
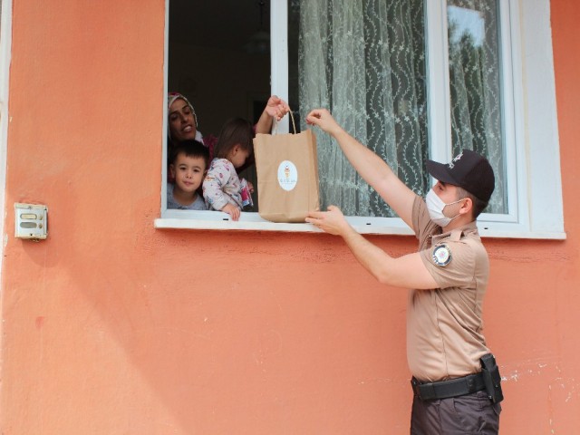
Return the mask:
[[[411,435],[497,435],[501,405],[486,391],[465,396],[421,401],[413,398]]]

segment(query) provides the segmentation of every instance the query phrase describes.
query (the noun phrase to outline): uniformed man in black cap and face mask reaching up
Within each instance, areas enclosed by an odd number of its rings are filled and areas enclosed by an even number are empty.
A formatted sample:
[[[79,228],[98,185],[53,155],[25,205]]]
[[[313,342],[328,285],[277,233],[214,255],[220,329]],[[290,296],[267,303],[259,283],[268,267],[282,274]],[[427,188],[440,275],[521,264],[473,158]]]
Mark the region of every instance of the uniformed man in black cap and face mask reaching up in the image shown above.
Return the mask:
[[[339,208],[306,218],[343,237],[382,284],[411,289],[411,434],[497,434],[503,396],[498,367],[482,333],[489,262],[476,226],[495,185],[488,160],[471,150],[463,150],[449,164],[429,160],[427,169],[437,183],[423,199],[372,150],[343,131],[328,111],[311,111],[306,121],[337,140],[354,169],[419,239],[419,252],[393,258],[358,234]]]

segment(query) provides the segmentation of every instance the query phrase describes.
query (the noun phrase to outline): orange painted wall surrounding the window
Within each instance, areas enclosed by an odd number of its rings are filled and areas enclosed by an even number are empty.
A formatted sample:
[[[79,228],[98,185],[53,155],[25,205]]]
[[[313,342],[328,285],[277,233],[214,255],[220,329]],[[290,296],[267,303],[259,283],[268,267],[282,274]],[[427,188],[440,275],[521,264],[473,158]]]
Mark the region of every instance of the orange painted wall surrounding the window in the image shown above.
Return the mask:
[[[163,8],[14,1],[0,431],[408,433],[405,291],[336,237],[153,228]],[[552,2],[567,239],[486,240],[507,434],[580,426],[579,11]],[[14,239],[14,202],[47,240]]]

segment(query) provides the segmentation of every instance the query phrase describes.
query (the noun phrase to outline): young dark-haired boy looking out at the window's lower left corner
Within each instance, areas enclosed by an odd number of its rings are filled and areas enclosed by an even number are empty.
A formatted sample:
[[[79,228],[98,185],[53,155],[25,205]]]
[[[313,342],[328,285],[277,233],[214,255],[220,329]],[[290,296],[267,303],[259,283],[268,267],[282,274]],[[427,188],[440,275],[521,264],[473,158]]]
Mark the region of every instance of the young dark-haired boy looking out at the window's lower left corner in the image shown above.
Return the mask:
[[[207,210],[198,189],[208,171],[209,151],[197,140],[185,140],[171,150],[167,183],[167,208]]]

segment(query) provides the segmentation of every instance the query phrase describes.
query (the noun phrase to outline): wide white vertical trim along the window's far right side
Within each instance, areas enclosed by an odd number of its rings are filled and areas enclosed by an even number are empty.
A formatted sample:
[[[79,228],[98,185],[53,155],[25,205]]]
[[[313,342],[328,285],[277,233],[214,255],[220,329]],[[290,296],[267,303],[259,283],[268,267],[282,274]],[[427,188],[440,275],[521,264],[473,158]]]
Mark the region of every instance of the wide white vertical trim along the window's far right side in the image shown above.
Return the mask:
[[[516,3],[516,2],[514,2]],[[530,231],[564,232],[564,208],[556,107],[549,0],[520,0],[520,58],[525,147],[518,161],[527,165],[527,212]]]

